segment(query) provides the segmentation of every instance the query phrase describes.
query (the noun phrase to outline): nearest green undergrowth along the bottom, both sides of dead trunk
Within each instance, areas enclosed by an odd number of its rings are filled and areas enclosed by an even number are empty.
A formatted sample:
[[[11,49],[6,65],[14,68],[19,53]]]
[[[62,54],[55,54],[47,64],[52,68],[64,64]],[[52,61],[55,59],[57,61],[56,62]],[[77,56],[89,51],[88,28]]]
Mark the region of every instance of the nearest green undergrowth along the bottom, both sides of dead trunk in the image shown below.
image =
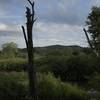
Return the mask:
[[[63,83],[52,74],[38,74],[39,100],[89,100],[77,86]],[[0,100],[31,100],[28,78],[23,72],[0,73]]]

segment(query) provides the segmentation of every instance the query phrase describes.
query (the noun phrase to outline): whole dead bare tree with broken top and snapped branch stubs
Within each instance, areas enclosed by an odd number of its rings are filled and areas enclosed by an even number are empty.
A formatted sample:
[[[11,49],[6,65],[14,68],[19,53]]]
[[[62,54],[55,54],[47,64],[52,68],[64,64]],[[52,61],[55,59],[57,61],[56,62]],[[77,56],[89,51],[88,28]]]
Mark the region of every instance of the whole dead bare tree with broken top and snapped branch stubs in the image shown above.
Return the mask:
[[[26,42],[27,46],[27,52],[28,52],[28,76],[29,76],[29,90],[30,90],[30,96],[33,98],[33,100],[38,100],[38,95],[37,95],[37,80],[36,80],[36,70],[34,67],[34,49],[33,49],[33,36],[32,36],[32,29],[33,29],[33,24],[36,21],[34,18],[35,13],[34,13],[34,1],[33,3],[28,0],[30,3],[32,9],[29,7],[26,7],[26,18],[27,18],[27,23],[26,23],[26,29],[27,29],[27,34],[25,32],[24,26],[22,26],[23,30],[23,35],[24,39]]]

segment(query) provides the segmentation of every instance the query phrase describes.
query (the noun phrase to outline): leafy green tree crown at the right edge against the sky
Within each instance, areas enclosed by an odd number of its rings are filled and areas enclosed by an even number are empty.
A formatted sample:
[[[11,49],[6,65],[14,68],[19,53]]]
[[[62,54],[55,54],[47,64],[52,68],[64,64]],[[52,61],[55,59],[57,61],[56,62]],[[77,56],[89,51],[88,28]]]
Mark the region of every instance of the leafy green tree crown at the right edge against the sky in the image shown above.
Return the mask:
[[[91,43],[100,53],[100,7],[93,7],[87,22],[88,32],[91,36]]]

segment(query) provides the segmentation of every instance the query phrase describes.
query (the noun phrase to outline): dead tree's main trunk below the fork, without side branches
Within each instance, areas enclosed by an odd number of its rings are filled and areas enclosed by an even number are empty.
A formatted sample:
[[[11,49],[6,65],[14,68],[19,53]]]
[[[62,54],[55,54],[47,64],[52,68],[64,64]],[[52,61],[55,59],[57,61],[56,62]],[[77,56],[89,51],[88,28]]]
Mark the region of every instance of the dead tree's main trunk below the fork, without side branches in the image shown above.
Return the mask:
[[[27,26],[28,33],[28,74],[29,74],[29,85],[30,93],[34,100],[37,100],[37,86],[36,86],[36,70],[34,67],[34,49],[33,49],[33,39],[32,39],[32,29]]]

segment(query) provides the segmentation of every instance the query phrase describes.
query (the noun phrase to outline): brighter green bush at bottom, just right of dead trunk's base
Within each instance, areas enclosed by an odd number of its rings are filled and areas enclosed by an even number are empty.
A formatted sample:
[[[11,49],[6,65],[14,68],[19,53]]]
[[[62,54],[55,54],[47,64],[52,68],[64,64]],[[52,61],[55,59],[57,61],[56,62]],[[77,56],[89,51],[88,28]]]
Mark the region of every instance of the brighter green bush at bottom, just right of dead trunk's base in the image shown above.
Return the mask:
[[[63,83],[52,74],[40,74],[39,90],[40,100],[89,100],[84,90]]]

